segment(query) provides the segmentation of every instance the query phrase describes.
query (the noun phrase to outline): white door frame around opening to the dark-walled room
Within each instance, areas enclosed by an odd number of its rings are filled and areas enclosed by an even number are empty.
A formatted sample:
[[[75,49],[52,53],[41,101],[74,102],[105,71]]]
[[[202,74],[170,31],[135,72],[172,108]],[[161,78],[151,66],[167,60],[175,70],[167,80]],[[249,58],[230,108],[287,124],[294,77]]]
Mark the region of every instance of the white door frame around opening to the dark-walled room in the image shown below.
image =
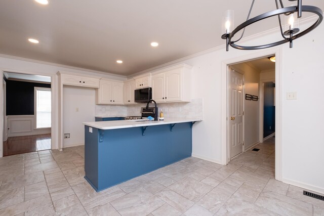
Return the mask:
[[[29,72],[29,71],[22,71],[22,70],[13,70],[13,69],[5,69],[0,68],[0,79],[4,79],[4,72],[12,72],[12,73],[22,73],[22,74],[29,74],[29,75],[41,75],[41,76],[49,76],[51,77],[51,95],[52,95],[52,125],[51,125],[51,149],[57,149],[57,108],[56,108],[56,95],[57,95],[57,79],[56,74],[39,74],[35,72]],[[3,104],[3,82],[1,82],[1,88],[0,88],[0,101],[1,101],[1,109],[0,109],[0,116],[4,115],[4,104]],[[2,144],[0,145],[0,158],[3,157],[3,132],[4,132],[4,120],[3,117],[1,117],[0,122],[0,140],[2,141]]]

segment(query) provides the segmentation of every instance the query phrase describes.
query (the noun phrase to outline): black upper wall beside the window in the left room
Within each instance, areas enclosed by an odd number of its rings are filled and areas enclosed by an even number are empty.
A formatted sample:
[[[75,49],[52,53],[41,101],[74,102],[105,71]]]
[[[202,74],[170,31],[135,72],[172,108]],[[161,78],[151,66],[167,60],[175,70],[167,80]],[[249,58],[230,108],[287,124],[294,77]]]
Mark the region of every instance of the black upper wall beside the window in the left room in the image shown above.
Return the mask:
[[[6,115],[33,115],[34,87],[51,84],[6,80]]]

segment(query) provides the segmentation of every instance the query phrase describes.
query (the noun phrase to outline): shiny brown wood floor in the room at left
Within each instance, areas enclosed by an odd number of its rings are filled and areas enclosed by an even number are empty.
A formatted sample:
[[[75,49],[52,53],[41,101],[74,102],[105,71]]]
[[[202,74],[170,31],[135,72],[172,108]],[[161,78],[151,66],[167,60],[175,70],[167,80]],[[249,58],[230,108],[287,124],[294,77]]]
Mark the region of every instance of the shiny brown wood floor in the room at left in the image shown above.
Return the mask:
[[[51,134],[9,137],[4,142],[4,156],[51,149]]]

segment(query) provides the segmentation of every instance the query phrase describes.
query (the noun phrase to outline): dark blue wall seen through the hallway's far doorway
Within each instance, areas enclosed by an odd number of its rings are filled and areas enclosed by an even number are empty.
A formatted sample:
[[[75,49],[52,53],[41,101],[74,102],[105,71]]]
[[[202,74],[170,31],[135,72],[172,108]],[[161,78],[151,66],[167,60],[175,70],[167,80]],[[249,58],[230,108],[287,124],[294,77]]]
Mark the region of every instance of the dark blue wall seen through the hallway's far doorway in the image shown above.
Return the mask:
[[[264,83],[263,137],[275,132],[274,87],[273,82]]]

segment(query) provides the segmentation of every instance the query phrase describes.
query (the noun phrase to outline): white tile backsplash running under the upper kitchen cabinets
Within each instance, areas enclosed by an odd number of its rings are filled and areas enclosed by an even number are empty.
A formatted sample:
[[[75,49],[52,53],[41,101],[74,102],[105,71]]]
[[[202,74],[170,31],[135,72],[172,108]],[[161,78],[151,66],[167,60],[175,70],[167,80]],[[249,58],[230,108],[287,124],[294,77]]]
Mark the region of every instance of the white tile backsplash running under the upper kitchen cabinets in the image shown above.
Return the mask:
[[[96,116],[140,116],[141,107],[146,103],[134,105],[96,105]],[[151,104],[150,106],[153,106]],[[191,102],[158,103],[158,111],[162,109],[165,117],[203,119],[203,99],[192,99]]]

